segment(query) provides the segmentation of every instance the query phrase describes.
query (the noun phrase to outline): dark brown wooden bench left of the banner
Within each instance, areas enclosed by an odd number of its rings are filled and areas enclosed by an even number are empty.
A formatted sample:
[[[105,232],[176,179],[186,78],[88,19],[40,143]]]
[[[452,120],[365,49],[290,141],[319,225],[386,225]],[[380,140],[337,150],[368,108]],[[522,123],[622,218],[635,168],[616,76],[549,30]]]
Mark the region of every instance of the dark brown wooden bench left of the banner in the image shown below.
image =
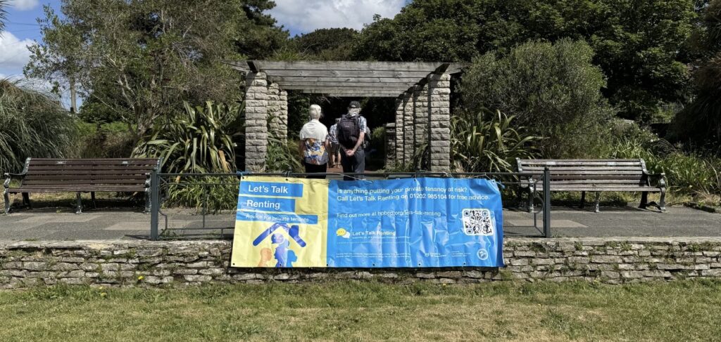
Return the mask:
[[[90,193],[94,207],[96,192],[143,192],[147,212],[150,208],[150,174],[159,167],[157,158],[27,158],[22,172],[5,174],[5,213],[10,211],[10,194],[22,193],[22,203],[31,207],[30,193],[76,193],[76,213],[81,213],[80,193]],[[10,188],[13,179],[20,181],[17,188]]]

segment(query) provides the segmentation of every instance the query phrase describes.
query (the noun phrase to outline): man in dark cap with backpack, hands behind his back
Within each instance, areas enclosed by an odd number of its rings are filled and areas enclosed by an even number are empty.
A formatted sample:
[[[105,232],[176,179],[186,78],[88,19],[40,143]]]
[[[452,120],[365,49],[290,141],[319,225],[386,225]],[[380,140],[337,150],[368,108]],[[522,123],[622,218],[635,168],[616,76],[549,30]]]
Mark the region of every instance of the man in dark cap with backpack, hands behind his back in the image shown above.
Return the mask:
[[[351,101],[348,114],[340,118],[336,127],[336,137],[340,144],[340,164],[344,173],[363,174],[366,171],[366,152],[363,151],[363,140],[366,137],[368,123],[361,116],[361,103]],[[363,178],[363,175],[344,176],[343,180]]]

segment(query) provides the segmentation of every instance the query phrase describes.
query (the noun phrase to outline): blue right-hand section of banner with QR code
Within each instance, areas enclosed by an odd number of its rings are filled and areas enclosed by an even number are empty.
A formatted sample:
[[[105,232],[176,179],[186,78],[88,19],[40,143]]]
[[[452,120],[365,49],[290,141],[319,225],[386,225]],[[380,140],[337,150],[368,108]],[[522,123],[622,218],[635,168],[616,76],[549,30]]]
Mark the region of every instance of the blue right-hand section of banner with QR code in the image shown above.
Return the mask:
[[[331,180],[329,267],[502,267],[503,210],[492,180]]]

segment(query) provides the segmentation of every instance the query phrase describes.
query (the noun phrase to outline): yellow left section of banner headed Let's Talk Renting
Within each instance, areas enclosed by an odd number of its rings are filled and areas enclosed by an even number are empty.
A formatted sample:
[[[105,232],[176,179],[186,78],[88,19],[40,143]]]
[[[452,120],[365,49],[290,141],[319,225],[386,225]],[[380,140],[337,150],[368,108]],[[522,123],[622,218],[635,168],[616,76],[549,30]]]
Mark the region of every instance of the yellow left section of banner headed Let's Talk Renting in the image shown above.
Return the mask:
[[[328,181],[242,177],[232,267],[326,267]]]

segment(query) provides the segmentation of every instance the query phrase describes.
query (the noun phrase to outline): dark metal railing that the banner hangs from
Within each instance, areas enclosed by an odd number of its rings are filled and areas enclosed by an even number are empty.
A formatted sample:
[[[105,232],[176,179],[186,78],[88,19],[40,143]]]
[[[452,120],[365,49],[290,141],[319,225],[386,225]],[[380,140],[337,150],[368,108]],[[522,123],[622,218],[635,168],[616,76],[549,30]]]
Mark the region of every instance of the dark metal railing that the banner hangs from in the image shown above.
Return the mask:
[[[275,177],[307,177],[311,175],[325,175],[331,179],[342,178],[343,176],[358,178],[364,177],[367,180],[379,180],[379,179],[397,179],[397,178],[409,178],[409,177],[484,177],[487,179],[496,180],[500,183],[502,193],[505,192],[512,194],[516,192],[516,204],[520,205],[521,195],[524,192],[531,196],[526,207],[528,213],[534,216],[533,228],[544,237],[551,237],[551,192],[549,188],[550,172],[546,168],[542,173],[533,172],[369,172],[365,174],[354,174],[354,173],[297,173],[297,172],[238,172],[238,173],[203,173],[203,174],[187,174],[187,173],[161,173],[154,170],[151,174],[151,219],[150,219],[150,238],[151,240],[158,239],[189,239],[193,237],[209,237],[215,235],[217,237],[218,231],[221,236],[225,235],[225,231],[231,231],[234,229],[234,225],[231,223],[221,223],[225,226],[208,226],[206,216],[225,214],[228,215],[235,213],[237,189],[241,177],[244,175],[257,175],[257,176],[275,176]],[[537,186],[541,182],[541,189]],[[184,188],[185,187],[185,188]],[[200,195],[195,193],[195,213],[191,216],[185,215],[186,218],[190,217],[191,221],[199,221],[200,226],[188,228],[183,226],[182,228],[174,228],[169,226],[169,213],[164,212],[164,204],[167,204],[169,195],[172,192],[178,192],[187,190],[187,187],[193,187],[193,190],[197,190],[200,187]],[[213,188],[211,188],[213,187]],[[218,187],[225,191],[227,189],[234,189],[231,191],[233,195],[218,192]],[[213,190],[215,193],[213,193]],[[539,193],[541,190],[541,193]],[[218,196],[228,196],[228,203],[221,198],[220,202],[225,203],[218,205]],[[512,196],[502,196],[502,198],[508,198]],[[539,205],[536,207],[534,202],[539,200]],[[171,201],[172,202],[172,201]],[[508,199],[504,203],[504,208],[513,206],[508,205]],[[173,203],[169,203],[171,206]],[[169,208],[169,205],[165,205],[167,210],[180,208]],[[185,209],[187,211],[187,208]],[[200,215],[200,219],[197,216]],[[541,215],[542,221],[539,227],[538,216]],[[161,225],[161,216],[164,219]],[[235,221],[235,216],[229,222]],[[198,233],[190,234],[189,231],[197,231]],[[208,233],[210,232],[210,233]],[[537,235],[536,235],[537,236]]]

